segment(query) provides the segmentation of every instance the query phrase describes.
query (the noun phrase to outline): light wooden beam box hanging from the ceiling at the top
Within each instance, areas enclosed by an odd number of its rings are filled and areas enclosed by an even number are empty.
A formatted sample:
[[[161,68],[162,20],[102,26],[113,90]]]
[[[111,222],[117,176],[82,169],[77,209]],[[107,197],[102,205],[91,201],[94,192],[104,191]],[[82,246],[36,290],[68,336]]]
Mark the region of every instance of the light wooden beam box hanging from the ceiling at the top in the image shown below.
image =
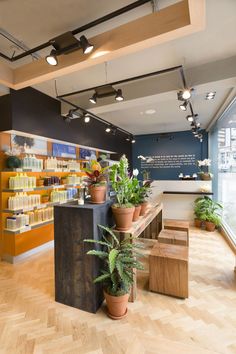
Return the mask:
[[[53,67],[45,59],[13,70],[13,80],[5,77],[6,86],[22,89],[55,79],[120,56],[180,38],[205,28],[205,0],[183,0],[108,32],[89,38],[95,47],[90,55],[82,50],[58,57]],[[1,82],[1,71],[0,71]]]

